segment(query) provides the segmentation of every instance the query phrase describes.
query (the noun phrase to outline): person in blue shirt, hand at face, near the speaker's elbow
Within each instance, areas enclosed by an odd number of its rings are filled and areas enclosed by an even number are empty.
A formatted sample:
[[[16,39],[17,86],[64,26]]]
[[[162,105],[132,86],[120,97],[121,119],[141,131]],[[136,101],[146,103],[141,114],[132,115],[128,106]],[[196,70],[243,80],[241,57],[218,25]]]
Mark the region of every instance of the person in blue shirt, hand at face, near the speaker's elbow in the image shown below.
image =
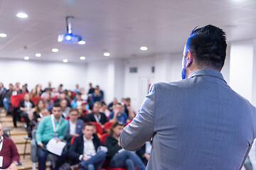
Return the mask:
[[[126,124],[128,117],[127,114],[122,112],[122,104],[117,103],[114,105],[114,111],[110,113],[110,122],[117,122],[121,121],[122,123]]]

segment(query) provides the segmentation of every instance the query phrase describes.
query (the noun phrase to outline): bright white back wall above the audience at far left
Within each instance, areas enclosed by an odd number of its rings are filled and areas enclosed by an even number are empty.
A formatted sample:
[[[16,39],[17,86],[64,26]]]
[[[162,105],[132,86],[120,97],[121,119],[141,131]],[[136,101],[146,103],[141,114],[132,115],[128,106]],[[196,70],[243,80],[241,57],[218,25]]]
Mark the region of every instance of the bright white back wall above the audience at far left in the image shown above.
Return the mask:
[[[28,89],[42,84],[43,89],[51,81],[53,87],[63,84],[64,89],[75,89],[75,84],[87,86],[84,74],[86,64],[33,62],[23,60],[0,60],[0,81],[8,87],[9,83],[27,83]]]

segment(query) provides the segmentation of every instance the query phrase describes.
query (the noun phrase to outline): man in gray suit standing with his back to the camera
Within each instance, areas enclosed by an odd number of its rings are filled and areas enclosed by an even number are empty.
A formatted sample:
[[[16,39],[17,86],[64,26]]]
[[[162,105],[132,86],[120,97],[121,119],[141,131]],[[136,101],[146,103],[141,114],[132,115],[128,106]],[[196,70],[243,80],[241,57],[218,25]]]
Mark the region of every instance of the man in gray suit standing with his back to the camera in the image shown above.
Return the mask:
[[[131,151],[153,137],[146,169],[241,169],[256,135],[256,108],[220,73],[226,47],[220,28],[194,29],[184,47],[183,80],[151,85],[120,137]]]

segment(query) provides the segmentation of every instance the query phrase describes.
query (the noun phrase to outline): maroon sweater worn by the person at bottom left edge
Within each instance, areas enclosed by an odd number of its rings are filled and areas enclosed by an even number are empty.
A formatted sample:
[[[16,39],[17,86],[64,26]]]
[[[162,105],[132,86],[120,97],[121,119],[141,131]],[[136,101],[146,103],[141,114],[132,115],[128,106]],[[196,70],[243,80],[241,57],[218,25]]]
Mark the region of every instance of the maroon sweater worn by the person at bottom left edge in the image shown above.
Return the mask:
[[[0,166],[0,169],[8,168],[10,164],[14,161],[19,162],[17,147],[9,137],[4,137],[0,157],[3,157],[3,166]]]

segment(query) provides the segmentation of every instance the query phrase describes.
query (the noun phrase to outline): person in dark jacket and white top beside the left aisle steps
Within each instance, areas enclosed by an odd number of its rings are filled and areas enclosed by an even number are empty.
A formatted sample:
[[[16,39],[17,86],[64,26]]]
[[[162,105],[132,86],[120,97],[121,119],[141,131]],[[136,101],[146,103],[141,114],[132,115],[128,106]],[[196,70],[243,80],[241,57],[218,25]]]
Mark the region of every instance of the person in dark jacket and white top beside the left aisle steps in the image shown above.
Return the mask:
[[[24,94],[24,100],[20,101],[18,104],[18,110],[21,113],[21,117],[25,118],[26,127],[29,127],[30,121],[28,114],[31,113],[31,110],[35,107],[33,101],[30,100],[29,94]]]

